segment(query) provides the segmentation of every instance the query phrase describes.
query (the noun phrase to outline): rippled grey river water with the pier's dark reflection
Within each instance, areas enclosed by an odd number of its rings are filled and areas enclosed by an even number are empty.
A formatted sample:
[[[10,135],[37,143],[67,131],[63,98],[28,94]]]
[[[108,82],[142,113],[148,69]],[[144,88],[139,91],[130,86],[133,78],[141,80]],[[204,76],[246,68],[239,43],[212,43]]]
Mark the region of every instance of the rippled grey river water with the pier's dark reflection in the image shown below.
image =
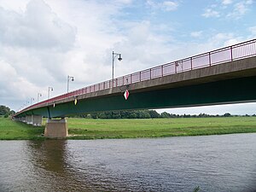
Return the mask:
[[[256,134],[0,141],[0,191],[256,191]]]

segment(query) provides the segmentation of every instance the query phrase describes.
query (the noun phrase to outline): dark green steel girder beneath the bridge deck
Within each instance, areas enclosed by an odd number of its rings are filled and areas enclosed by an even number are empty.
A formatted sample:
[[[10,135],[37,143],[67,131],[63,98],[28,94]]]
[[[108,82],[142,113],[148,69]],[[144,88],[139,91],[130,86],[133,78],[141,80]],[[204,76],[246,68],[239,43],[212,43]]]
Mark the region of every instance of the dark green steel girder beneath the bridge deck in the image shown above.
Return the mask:
[[[22,115],[40,114],[44,117],[65,117],[73,113],[90,113],[143,108],[177,108],[236,102],[256,102],[256,76],[217,82],[187,85],[169,89],[130,91],[127,101],[123,92],[36,108]]]

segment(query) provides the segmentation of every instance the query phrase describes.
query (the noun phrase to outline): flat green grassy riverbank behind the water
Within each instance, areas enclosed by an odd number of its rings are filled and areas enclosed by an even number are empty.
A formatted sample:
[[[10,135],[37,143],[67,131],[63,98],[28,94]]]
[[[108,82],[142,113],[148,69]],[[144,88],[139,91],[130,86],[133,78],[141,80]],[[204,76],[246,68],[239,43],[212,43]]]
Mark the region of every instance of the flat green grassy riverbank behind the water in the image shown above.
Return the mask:
[[[200,136],[256,132],[255,117],[67,119],[70,139]],[[0,118],[0,139],[44,139],[44,126]]]

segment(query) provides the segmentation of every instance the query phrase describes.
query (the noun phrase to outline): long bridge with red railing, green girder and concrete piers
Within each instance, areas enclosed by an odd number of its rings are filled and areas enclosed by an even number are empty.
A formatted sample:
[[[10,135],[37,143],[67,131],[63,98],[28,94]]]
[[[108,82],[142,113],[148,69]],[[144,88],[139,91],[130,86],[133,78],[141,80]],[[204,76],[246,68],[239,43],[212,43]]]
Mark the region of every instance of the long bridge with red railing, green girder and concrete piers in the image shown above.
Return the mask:
[[[256,102],[255,84],[252,39],[55,96],[20,110],[13,119],[42,125],[46,117],[44,135],[66,137],[70,114]]]

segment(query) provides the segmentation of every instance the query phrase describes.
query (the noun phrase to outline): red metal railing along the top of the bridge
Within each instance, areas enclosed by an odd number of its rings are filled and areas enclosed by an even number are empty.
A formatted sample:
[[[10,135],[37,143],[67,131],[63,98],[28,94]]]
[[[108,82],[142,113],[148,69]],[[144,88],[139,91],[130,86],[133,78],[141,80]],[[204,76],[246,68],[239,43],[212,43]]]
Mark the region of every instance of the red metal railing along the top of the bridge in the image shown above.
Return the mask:
[[[54,98],[45,100],[43,102],[38,102],[28,108],[21,110],[19,113],[22,113],[23,111],[26,111],[30,108],[35,108],[46,103],[57,102],[72,96],[92,93],[98,90],[106,90],[125,84],[133,84],[148,79],[160,78],[175,73],[183,73],[197,68],[211,67],[220,63],[224,63],[227,61],[236,61],[239,59],[251,57],[253,55],[256,55],[256,39],[243,42],[241,44],[231,45],[222,49],[212,50],[210,52],[200,55],[191,56],[183,60],[172,61],[170,63],[148,68],[141,72],[131,73],[117,79],[108,80],[99,84],[93,84],[80,90],[74,90],[67,94],[55,96]]]

